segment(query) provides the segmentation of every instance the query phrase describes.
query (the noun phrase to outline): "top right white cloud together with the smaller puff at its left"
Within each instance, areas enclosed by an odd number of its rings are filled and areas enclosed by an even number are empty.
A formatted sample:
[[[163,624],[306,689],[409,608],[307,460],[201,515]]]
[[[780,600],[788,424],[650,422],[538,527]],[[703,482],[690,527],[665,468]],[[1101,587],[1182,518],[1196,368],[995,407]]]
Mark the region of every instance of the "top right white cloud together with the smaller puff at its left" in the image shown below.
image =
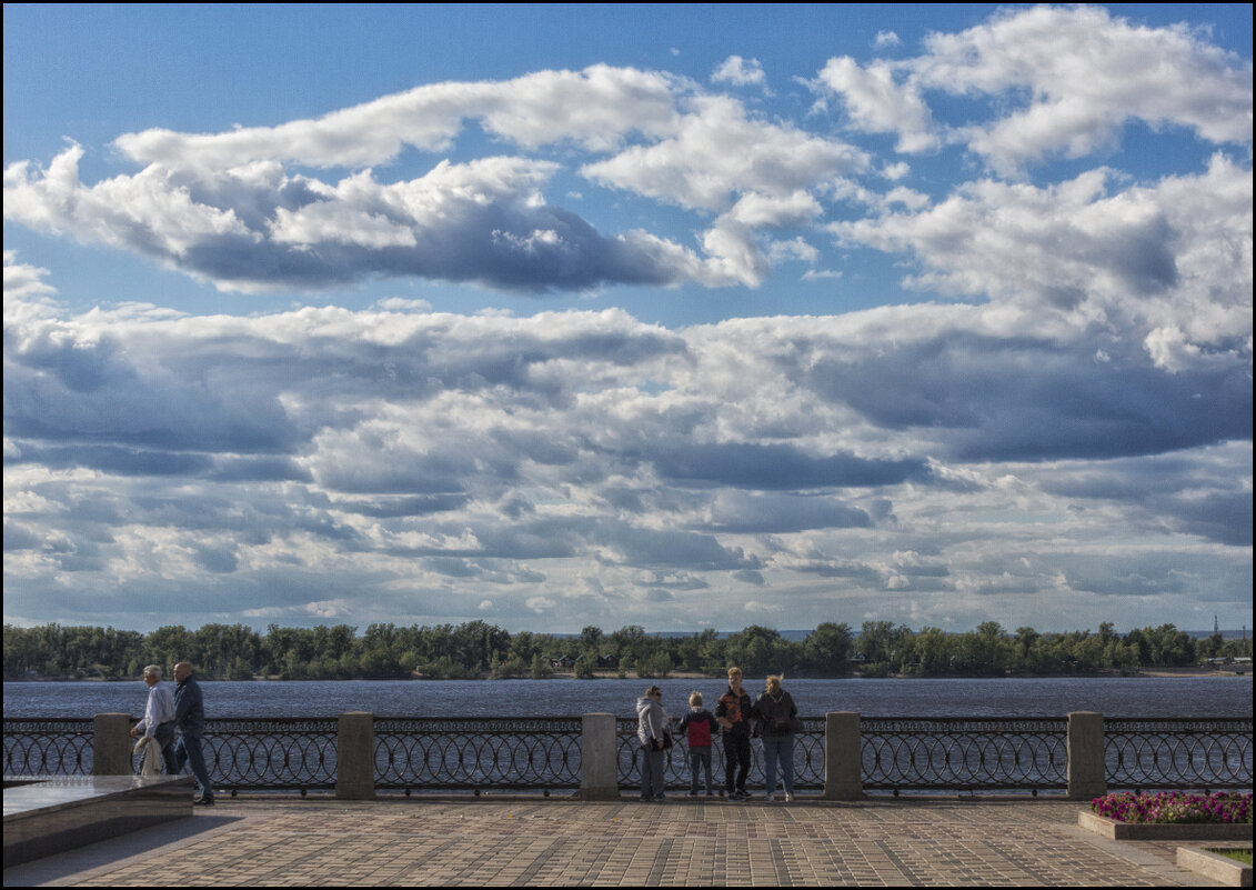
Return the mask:
[[[839,97],[854,127],[897,133],[899,152],[960,142],[1005,176],[1054,156],[1112,148],[1135,119],[1186,127],[1218,145],[1251,142],[1251,62],[1186,25],[1138,26],[1099,6],[1035,6],[958,34],[931,34],[924,50],[867,65],[830,59],[815,88]],[[1017,107],[992,122],[943,127],[928,108],[929,91]]]

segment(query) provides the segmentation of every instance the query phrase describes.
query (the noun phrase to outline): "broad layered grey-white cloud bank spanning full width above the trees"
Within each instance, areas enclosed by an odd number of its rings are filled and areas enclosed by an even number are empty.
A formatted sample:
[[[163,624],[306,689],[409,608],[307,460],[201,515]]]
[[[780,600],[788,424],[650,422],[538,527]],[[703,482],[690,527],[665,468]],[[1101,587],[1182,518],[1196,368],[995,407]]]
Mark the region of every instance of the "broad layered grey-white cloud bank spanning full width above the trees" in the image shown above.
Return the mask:
[[[255,608],[284,578],[279,617],[362,615],[345,591],[369,590],[381,620],[470,620],[555,613],[595,582],[578,627],[740,585],[1042,590],[1091,513],[1226,564],[1250,537],[1246,361],[1171,371],[1105,342],[1088,362],[1094,334],[1031,338],[997,305],[683,331],[623,312],[44,307],[5,337],[6,572],[67,607],[70,587],[129,578]],[[1011,518],[1036,512],[1080,519]],[[1037,568],[1009,581],[1026,548]]]

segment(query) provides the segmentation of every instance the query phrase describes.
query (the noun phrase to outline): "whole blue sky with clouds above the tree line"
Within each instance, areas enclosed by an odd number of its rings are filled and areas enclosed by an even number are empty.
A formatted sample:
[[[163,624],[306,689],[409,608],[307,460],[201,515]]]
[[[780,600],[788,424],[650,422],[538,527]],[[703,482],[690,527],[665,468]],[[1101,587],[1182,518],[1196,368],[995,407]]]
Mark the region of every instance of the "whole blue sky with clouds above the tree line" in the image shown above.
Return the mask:
[[[1252,13],[4,8],[4,620],[1251,626]]]

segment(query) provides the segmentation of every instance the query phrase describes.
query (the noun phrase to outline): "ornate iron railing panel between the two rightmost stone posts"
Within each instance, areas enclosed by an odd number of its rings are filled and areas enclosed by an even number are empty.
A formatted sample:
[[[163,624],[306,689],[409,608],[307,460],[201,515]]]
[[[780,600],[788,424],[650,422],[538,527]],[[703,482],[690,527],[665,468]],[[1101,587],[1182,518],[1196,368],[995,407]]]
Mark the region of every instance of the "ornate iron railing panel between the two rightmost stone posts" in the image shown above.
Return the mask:
[[[868,791],[1064,789],[1064,718],[863,718]]]

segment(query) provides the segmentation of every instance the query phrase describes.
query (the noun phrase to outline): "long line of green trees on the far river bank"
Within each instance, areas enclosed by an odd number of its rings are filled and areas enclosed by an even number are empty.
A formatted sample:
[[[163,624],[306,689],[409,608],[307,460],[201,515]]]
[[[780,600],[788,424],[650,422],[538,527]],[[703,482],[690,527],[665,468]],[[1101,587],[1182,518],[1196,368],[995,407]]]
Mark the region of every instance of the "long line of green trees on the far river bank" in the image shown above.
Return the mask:
[[[124,679],[144,665],[170,669],[188,661],[205,679],[353,680],[545,678],[566,656],[577,676],[666,678],[676,671],[722,675],[739,665],[747,675],[784,671],[790,676],[1005,676],[1084,675],[1181,668],[1212,657],[1251,657],[1250,640],[1220,634],[1194,639],[1173,625],[1117,634],[1006,631],[986,621],[972,631],[937,627],[913,631],[891,621],[825,622],[791,641],[751,625],[720,636],[705,630],[687,636],[647,634],[638,625],[609,634],[588,626],[579,636],[511,634],[496,625],[399,627],[349,625],[279,627],[265,634],[245,625],[205,625],[198,630],[160,627],[151,634],[113,627],[4,627],[4,676]]]

